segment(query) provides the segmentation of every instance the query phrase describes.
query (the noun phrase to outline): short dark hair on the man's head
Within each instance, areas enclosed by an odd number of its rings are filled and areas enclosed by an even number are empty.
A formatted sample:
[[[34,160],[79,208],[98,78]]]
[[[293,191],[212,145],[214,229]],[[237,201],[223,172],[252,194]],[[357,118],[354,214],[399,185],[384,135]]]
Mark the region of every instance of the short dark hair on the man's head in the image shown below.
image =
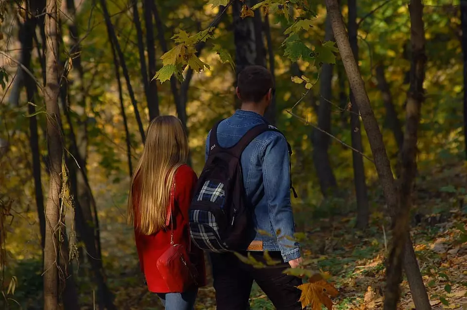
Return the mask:
[[[238,92],[243,102],[258,103],[274,88],[272,74],[262,66],[248,66],[237,78]]]

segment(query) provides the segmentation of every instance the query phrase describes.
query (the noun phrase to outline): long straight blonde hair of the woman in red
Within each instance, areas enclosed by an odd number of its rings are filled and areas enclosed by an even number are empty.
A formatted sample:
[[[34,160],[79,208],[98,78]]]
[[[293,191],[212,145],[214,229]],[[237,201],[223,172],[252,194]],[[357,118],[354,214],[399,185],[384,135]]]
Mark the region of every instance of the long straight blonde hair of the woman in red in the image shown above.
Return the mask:
[[[165,228],[173,178],[187,159],[188,141],[181,121],[170,115],[152,120],[131,179],[128,224],[145,235]]]

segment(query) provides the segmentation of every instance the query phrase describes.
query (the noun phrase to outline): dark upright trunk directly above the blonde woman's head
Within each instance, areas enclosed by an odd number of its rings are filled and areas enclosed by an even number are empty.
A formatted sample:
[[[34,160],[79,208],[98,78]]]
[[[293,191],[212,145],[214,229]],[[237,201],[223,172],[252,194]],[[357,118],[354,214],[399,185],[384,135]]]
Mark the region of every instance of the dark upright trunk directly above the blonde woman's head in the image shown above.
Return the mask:
[[[152,3],[151,3],[152,2]],[[149,98],[148,98],[148,109],[149,109],[149,121],[152,121],[155,117],[159,116],[159,97],[157,92],[157,81],[153,79],[156,75],[156,48],[154,42],[154,27],[152,23],[152,10],[151,5],[154,4],[152,0],[144,0],[144,24],[146,26],[146,46],[147,46],[147,58],[149,65]]]

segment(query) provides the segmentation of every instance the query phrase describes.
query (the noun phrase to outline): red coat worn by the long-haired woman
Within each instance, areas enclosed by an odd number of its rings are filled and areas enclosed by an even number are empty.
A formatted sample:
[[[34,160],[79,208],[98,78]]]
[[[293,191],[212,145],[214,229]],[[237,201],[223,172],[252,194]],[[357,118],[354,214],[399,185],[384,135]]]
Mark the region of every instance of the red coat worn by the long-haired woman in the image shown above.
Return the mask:
[[[175,172],[174,243],[185,244],[187,248],[189,242],[188,207],[197,180],[196,173],[188,165],[181,166]],[[133,190],[133,192],[137,192],[137,190]],[[170,293],[156,267],[157,259],[170,244],[170,235],[170,228],[160,230],[149,236],[135,230],[136,248],[141,271],[146,277],[148,290],[153,293]],[[206,270],[203,252],[192,244],[190,254],[192,262],[197,267],[198,284],[199,286],[205,286]]]

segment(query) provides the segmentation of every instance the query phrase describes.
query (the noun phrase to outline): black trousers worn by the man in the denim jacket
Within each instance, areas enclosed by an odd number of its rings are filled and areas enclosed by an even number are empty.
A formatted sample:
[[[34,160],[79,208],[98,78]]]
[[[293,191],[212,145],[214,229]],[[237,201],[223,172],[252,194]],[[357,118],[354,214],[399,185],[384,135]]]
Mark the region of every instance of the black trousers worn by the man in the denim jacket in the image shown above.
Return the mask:
[[[246,256],[247,253],[241,253]],[[258,261],[264,262],[264,252],[250,252]],[[234,253],[211,253],[214,289],[216,290],[217,310],[249,310],[253,280],[269,297],[278,310],[302,310],[299,302],[301,291],[297,286],[302,279],[283,274],[289,268],[280,252],[269,252],[274,260],[281,263],[266,268],[254,268],[242,262]],[[266,264],[265,264],[266,265]]]

